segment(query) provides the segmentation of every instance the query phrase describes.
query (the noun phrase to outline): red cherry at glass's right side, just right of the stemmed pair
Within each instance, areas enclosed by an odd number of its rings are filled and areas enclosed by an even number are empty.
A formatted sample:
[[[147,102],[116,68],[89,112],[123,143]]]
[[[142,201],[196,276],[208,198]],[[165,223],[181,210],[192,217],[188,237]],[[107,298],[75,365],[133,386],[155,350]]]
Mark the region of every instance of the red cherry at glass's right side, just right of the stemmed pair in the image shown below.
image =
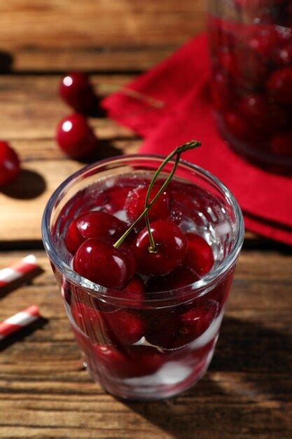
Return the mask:
[[[204,276],[214,265],[214,254],[211,245],[197,234],[186,234],[188,239],[188,249],[183,264],[195,271],[200,276]]]

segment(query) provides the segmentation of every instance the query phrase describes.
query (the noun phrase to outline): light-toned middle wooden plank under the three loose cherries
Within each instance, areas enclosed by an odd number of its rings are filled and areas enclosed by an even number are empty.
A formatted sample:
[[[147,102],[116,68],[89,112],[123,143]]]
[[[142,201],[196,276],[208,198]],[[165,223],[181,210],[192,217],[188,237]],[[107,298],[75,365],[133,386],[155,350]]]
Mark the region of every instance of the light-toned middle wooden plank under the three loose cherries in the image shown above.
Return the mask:
[[[92,78],[102,95],[133,76]],[[41,215],[50,194],[84,163],[64,156],[54,140],[55,127],[71,110],[57,95],[60,76],[0,77],[0,138],[13,144],[22,160],[22,175],[0,191],[0,241],[41,239]],[[100,139],[96,160],[135,152],[141,141],[130,130],[104,118],[90,119]],[[21,215],[18,215],[21,212]]]

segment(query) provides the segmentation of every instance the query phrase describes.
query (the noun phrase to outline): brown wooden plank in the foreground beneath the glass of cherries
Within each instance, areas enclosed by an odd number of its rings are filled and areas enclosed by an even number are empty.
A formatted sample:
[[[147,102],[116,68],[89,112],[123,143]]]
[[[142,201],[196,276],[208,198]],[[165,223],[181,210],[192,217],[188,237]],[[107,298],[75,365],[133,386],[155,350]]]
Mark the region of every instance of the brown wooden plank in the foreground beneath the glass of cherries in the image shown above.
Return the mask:
[[[23,255],[2,252],[0,269]],[[120,402],[91,381],[46,255],[36,255],[43,274],[1,299],[0,321],[32,303],[48,319],[1,353],[1,438],[291,438],[291,252],[242,252],[209,372],[151,404]]]

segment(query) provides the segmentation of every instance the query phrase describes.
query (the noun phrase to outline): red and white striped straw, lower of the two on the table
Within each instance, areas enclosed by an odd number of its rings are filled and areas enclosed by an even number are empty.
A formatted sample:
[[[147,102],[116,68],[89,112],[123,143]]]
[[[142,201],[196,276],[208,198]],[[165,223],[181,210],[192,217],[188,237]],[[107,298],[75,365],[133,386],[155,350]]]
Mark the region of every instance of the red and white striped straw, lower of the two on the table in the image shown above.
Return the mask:
[[[30,325],[30,323],[40,317],[39,306],[32,305],[20,311],[20,313],[7,318],[4,322],[0,323],[0,340],[20,330],[22,327]]]

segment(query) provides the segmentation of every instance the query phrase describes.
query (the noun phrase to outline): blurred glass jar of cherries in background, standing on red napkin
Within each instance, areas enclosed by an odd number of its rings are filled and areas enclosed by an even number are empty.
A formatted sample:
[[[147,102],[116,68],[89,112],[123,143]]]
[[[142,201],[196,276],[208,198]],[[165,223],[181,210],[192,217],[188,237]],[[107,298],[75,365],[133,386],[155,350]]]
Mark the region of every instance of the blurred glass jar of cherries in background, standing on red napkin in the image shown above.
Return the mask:
[[[291,1],[209,0],[208,27],[221,133],[251,161],[291,173]]]

